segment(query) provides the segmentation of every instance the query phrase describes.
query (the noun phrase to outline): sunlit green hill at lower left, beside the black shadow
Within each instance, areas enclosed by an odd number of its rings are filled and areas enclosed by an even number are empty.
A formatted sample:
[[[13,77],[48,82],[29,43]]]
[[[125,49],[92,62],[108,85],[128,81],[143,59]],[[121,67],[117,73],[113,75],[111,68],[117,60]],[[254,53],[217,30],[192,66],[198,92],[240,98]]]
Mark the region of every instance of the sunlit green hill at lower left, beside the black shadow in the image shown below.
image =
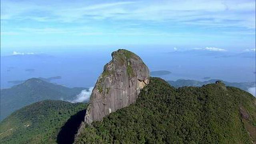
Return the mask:
[[[84,108],[86,108],[84,103],[73,104],[61,100],[44,100],[25,106],[0,123],[0,143],[57,143],[57,135],[62,126],[70,116]]]

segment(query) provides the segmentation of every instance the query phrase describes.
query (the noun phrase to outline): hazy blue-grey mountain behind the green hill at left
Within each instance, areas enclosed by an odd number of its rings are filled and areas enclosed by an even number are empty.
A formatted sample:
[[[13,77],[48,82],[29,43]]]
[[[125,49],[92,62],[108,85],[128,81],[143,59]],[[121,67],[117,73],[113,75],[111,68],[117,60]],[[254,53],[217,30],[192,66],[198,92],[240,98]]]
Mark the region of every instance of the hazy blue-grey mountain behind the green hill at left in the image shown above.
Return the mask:
[[[41,100],[72,100],[86,88],[67,88],[38,78],[31,78],[0,93],[0,120],[34,102]]]

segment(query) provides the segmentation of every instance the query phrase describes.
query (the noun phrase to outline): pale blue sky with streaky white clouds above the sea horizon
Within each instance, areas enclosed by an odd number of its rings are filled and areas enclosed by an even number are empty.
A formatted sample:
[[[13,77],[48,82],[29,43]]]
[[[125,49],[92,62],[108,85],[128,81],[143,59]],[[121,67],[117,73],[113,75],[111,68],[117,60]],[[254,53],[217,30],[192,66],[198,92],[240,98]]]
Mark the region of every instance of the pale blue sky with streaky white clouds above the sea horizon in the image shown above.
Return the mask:
[[[1,0],[1,48],[83,45],[255,51],[255,0]]]

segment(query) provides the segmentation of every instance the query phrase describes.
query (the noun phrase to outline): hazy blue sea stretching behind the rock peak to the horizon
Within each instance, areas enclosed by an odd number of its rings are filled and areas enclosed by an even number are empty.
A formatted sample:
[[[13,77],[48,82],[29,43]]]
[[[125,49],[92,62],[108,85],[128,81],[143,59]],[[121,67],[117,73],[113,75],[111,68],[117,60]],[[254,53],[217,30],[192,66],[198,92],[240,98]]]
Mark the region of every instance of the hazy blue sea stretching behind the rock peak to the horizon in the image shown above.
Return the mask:
[[[1,54],[1,88],[10,88],[9,81],[28,78],[48,78],[68,87],[92,87],[103,66],[111,60],[111,48],[62,48],[26,49],[23,54],[13,55],[14,50]],[[229,82],[255,81],[255,52],[238,54],[231,52],[178,51],[173,48],[131,48],[138,54],[150,71],[168,70],[172,74],[158,76],[165,80],[204,77]],[[33,52],[33,54],[29,54]]]

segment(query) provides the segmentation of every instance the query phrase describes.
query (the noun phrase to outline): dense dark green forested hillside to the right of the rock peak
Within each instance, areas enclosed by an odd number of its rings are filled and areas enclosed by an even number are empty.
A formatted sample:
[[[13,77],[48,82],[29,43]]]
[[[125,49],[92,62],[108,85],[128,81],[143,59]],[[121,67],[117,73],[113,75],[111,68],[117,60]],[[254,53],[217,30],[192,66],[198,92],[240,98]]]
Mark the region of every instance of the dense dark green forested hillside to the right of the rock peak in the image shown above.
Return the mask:
[[[136,103],[86,126],[76,144],[250,144],[254,96],[222,82],[174,88],[151,78]]]

